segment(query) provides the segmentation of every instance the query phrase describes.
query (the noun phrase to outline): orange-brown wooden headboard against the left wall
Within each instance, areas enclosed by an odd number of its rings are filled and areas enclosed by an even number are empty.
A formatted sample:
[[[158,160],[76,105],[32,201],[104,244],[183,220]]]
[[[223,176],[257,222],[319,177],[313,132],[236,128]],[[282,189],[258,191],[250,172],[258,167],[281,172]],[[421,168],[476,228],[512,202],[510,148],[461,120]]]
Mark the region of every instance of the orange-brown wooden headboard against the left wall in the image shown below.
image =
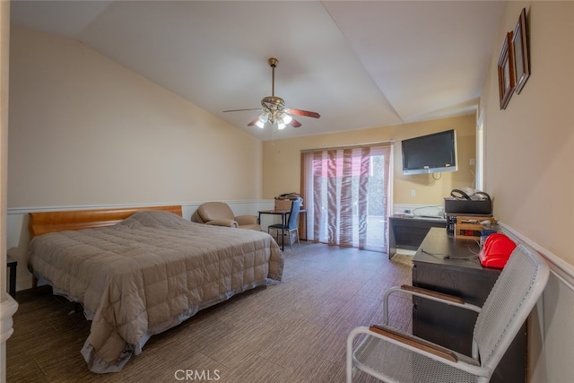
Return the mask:
[[[111,226],[142,210],[165,210],[181,213],[181,205],[141,206],[115,209],[68,210],[63,212],[30,213],[30,239],[53,231],[91,229]]]

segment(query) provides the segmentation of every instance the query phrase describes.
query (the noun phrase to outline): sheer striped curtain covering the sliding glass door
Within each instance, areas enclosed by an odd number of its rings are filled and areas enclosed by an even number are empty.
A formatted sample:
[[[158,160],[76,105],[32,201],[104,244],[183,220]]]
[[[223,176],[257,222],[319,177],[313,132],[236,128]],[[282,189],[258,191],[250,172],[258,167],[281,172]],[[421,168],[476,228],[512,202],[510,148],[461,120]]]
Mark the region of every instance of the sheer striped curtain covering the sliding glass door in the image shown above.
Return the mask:
[[[307,239],[387,249],[393,144],[301,152]]]

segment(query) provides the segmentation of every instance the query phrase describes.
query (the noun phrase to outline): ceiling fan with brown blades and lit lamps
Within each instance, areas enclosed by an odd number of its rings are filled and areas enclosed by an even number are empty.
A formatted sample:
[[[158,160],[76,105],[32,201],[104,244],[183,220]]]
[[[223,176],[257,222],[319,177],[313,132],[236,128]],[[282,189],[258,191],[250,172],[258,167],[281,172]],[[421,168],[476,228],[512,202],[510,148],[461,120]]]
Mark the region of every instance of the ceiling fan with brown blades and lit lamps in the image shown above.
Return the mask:
[[[309,110],[292,109],[285,108],[285,101],[281,97],[275,96],[275,67],[279,64],[279,60],[271,57],[267,60],[269,66],[272,69],[272,82],[271,82],[271,96],[265,97],[261,100],[261,107],[257,109],[233,109],[233,110],[223,110],[223,112],[238,112],[243,110],[261,110],[262,113],[259,117],[255,118],[253,121],[248,123],[248,126],[258,126],[264,128],[267,123],[271,124],[277,129],[284,129],[285,126],[291,125],[293,127],[301,126],[300,122],[290,115],[303,116],[310,118],[320,118],[321,116],[317,112],[311,112]]]

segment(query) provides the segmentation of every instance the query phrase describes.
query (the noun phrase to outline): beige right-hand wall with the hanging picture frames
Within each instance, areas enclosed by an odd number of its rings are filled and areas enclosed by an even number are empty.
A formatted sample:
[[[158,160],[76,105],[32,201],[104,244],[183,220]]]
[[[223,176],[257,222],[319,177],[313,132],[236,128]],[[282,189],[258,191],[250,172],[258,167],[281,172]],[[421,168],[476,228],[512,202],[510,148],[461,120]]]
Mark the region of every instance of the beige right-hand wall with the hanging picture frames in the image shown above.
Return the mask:
[[[526,7],[532,74],[500,110],[497,60]],[[508,2],[481,98],[497,217],[574,265],[574,3]]]

